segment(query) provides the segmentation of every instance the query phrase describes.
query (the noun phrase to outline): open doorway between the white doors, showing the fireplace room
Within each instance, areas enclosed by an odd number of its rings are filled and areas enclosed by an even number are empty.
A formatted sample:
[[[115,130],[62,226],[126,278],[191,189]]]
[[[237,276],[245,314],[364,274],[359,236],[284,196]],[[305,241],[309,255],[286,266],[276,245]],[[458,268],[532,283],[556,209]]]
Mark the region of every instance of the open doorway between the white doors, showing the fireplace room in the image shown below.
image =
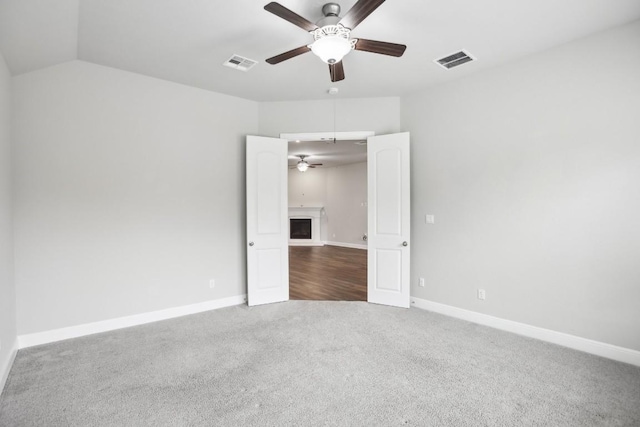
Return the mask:
[[[366,135],[370,133],[344,139],[319,139],[317,134],[286,138],[290,299],[367,300]],[[310,232],[314,222],[319,236],[311,232],[294,238],[305,220]]]

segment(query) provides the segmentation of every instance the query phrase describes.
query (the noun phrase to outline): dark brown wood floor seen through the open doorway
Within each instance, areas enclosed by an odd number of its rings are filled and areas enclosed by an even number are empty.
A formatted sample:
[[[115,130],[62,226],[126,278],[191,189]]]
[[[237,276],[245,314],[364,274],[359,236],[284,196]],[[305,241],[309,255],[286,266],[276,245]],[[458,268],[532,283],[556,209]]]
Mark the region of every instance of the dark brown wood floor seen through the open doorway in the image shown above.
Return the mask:
[[[338,246],[290,246],[289,298],[366,301],[367,251]]]

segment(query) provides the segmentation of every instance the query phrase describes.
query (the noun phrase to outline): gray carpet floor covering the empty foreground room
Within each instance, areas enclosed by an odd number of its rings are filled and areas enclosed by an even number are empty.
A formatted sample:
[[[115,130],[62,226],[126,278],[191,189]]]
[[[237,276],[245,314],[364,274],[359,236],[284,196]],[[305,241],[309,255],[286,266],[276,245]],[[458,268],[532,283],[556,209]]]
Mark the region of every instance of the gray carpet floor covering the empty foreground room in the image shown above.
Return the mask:
[[[2,426],[639,426],[640,368],[419,309],[237,306],[20,350]]]

